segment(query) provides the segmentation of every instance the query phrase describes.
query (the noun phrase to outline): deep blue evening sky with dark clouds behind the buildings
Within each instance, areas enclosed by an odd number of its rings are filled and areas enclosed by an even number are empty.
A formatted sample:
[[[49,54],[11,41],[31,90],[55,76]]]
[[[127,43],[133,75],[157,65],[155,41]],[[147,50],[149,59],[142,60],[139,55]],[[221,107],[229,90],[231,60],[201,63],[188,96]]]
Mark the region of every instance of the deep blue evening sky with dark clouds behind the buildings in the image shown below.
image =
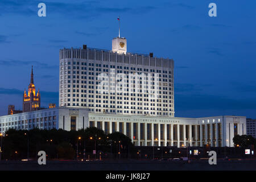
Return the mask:
[[[111,49],[120,16],[129,52],[174,59],[176,117],[256,118],[255,10],[254,0],[0,0],[0,115],[22,109],[31,65],[42,106],[58,104],[59,49]]]

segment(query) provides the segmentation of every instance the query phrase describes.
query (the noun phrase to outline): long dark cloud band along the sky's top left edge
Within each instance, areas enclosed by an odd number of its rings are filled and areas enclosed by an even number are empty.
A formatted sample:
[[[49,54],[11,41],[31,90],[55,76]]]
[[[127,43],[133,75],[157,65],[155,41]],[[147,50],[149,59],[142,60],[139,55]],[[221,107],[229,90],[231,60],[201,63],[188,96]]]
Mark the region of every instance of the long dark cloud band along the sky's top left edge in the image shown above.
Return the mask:
[[[2,14],[19,14],[25,16],[37,15],[38,4],[42,1],[28,1],[28,0],[1,0],[0,12]],[[152,6],[142,7],[115,7],[114,4],[108,4],[108,6],[102,6],[102,3],[97,1],[84,1],[79,3],[74,2],[52,2],[44,1],[46,4],[47,16],[53,14],[61,16],[69,16],[72,18],[92,19],[97,16],[101,16],[109,13],[132,13],[142,14],[148,13],[155,9]],[[112,7],[110,7],[112,5]]]

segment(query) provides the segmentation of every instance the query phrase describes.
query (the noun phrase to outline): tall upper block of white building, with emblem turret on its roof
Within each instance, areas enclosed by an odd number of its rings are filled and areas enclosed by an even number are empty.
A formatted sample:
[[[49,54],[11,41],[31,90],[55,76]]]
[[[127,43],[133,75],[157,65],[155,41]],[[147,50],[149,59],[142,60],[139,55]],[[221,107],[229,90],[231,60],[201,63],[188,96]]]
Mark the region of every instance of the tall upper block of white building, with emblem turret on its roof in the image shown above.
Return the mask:
[[[124,38],[112,43],[112,51],[60,49],[59,106],[88,107],[90,113],[174,117],[174,61],[128,53]],[[100,92],[100,75],[108,79],[106,92]],[[122,92],[117,92],[119,80],[125,80]]]

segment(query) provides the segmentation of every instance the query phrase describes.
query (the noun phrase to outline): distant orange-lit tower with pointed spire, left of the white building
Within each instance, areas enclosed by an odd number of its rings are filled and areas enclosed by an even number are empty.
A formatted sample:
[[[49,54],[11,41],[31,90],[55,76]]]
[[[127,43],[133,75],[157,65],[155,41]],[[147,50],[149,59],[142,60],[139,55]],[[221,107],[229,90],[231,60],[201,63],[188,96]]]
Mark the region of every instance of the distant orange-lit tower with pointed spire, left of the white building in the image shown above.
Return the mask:
[[[34,85],[34,74],[33,74],[33,66],[31,71],[30,85],[28,85],[28,93],[26,94],[26,89],[23,94],[23,112],[29,112],[40,109],[40,100],[41,96],[39,93],[35,93],[35,85]]]

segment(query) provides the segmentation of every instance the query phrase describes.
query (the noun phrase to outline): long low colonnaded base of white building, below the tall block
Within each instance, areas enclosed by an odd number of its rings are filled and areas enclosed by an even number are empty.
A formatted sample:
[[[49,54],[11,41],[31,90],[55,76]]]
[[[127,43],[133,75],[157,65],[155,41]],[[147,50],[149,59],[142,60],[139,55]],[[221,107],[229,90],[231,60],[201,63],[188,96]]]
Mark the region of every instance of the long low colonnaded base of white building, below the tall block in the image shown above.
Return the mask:
[[[233,147],[233,137],[246,134],[246,118],[218,116],[177,118],[125,114],[89,113],[81,107],[59,107],[0,117],[0,133],[8,129],[79,130],[97,127],[106,134],[119,131],[135,146]]]

